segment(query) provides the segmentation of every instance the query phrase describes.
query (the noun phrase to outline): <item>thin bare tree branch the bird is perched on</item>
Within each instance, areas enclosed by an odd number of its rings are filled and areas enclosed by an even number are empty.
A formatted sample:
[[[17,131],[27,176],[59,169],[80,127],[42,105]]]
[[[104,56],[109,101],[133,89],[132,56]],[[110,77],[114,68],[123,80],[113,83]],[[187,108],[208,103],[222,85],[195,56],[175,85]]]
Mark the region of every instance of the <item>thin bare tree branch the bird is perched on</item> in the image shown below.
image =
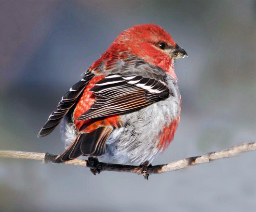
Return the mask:
[[[221,158],[229,158],[236,156],[240,153],[256,150],[256,142],[241,144],[232,147],[228,150],[220,150],[215,152],[210,152],[205,155],[190,157],[176,162],[171,162],[162,165],[148,166],[148,174],[161,174],[164,172],[176,171],[179,169],[184,169],[189,166],[199,165],[202,163],[207,163],[215,161]],[[0,150],[0,158],[17,158],[17,159],[30,159],[38,160],[42,162],[54,162],[57,155],[51,155],[49,153],[37,153],[37,152],[24,152],[24,151],[11,151],[11,150]],[[87,160],[74,159],[65,162],[66,164],[80,165],[89,168],[95,168],[91,166]],[[120,164],[109,164],[100,163],[102,171],[115,171],[115,172],[129,172],[136,174],[144,174],[145,167],[143,166],[132,166],[132,165],[120,165]]]

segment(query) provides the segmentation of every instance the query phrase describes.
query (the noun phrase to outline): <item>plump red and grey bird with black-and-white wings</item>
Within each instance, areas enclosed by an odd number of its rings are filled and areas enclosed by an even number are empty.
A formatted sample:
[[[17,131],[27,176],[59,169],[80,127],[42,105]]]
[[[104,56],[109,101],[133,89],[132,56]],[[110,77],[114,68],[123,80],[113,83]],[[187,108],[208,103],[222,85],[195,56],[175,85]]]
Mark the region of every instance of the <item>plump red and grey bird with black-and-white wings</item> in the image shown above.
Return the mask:
[[[66,150],[54,162],[88,156],[108,163],[151,163],[167,149],[180,120],[175,60],[186,56],[159,25],[121,32],[41,128],[38,137],[61,123]]]

